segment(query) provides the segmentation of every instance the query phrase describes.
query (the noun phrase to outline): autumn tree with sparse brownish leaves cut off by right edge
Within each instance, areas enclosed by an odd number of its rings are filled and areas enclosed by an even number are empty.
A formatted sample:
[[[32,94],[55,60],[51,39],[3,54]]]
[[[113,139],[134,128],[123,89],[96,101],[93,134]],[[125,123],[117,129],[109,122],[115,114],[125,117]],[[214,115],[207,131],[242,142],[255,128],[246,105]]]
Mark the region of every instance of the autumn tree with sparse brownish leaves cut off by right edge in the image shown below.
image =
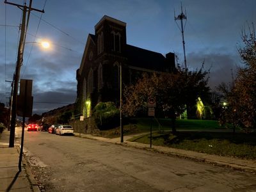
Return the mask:
[[[243,47],[239,54],[244,67],[239,68],[230,90],[225,90],[228,107],[223,110],[221,121],[241,127],[244,131],[256,129],[256,39],[255,29],[241,33]]]

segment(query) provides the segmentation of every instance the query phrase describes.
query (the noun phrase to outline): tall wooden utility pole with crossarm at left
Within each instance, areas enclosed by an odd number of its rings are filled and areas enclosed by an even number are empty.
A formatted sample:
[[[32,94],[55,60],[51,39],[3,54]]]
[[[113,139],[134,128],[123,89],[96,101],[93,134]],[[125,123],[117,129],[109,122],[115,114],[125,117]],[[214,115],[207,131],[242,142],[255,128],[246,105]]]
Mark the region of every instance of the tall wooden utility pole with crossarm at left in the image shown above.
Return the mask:
[[[11,117],[11,126],[10,126],[10,140],[9,140],[9,147],[14,147],[14,140],[15,140],[15,125],[16,125],[16,111],[17,111],[17,93],[18,93],[18,86],[19,86],[19,76],[20,76],[20,67],[23,61],[23,52],[24,52],[24,45],[26,41],[26,31],[28,30],[28,22],[29,22],[29,15],[31,10],[35,10],[37,12],[44,13],[44,10],[37,10],[35,8],[31,8],[32,0],[29,1],[29,7],[24,5],[15,4],[4,1],[6,4],[11,4],[17,6],[22,10],[22,24],[20,28],[20,40],[19,40],[19,49],[17,55],[17,64],[15,68],[15,77],[13,81],[13,99],[12,99],[12,117]],[[28,20],[26,24],[26,15],[28,12]]]

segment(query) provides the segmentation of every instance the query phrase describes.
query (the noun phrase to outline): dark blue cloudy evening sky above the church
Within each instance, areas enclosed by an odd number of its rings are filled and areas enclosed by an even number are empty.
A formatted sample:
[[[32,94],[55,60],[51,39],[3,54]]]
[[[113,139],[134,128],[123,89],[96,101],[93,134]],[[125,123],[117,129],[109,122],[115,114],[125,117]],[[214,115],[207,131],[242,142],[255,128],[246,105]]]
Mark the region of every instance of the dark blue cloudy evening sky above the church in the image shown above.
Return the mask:
[[[33,1],[37,9],[44,4],[45,0]],[[193,70],[205,61],[205,70],[211,67],[209,86],[214,90],[221,82],[231,80],[231,70],[236,72],[237,66],[243,66],[237,48],[243,46],[241,30],[256,23],[256,1],[184,0],[182,4],[188,17],[184,32],[188,66]],[[20,78],[33,79],[33,113],[41,114],[76,100],[76,70],[86,39],[88,33],[94,34],[95,24],[104,15],[127,23],[127,44],[161,54],[175,52],[183,64],[182,36],[174,21],[174,10],[176,15],[180,13],[178,0],[48,0],[44,10],[41,21],[41,13],[32,12],[26,42],[40,38],[53,45],[44,51],[38,44],[26,44],[20,72]],[[12,80],[15,71],[21,14],[19,8],[1,2],[0,102],[4,104],[11,91],[10,83],[5,81]]]

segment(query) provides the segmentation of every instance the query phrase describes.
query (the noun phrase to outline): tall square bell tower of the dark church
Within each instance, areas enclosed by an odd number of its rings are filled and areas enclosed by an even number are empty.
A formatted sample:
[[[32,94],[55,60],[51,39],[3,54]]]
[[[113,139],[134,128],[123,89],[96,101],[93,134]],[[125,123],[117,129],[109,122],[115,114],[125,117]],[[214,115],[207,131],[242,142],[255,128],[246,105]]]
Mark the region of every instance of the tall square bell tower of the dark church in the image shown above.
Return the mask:
[[[97,40],[97,100],[118,104],[120,92],[120,65],[125,65],[126,23],[104,15],[95,25]],[[123,66],[122,66],[123,67]]]

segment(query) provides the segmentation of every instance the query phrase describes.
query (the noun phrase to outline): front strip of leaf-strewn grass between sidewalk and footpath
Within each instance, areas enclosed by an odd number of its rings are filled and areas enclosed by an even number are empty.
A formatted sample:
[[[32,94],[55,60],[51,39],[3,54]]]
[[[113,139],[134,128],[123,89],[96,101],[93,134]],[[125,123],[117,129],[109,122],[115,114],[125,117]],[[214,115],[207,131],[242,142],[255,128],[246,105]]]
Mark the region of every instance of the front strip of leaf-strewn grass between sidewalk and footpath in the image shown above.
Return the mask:
[[[139,143],[150,143],[150,135],[131,139]],[[152,135],[152,144],[216,154],[218,156],[256,159],[256,134],[230,132],[186,131],[158,133]]]

